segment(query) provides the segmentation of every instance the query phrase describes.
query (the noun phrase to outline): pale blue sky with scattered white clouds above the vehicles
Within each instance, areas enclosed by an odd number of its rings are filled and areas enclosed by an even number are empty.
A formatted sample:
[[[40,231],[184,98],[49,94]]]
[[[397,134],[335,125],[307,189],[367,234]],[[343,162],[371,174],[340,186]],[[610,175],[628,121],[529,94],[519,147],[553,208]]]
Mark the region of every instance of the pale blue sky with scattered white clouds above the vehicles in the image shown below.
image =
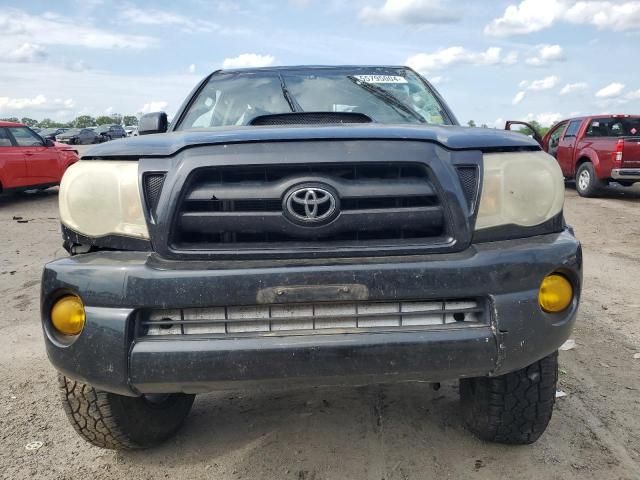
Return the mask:
[[[170,115],[224,66],[410,65],[461,122],[640,113],[640,1],[0,0],[0,117]]]

